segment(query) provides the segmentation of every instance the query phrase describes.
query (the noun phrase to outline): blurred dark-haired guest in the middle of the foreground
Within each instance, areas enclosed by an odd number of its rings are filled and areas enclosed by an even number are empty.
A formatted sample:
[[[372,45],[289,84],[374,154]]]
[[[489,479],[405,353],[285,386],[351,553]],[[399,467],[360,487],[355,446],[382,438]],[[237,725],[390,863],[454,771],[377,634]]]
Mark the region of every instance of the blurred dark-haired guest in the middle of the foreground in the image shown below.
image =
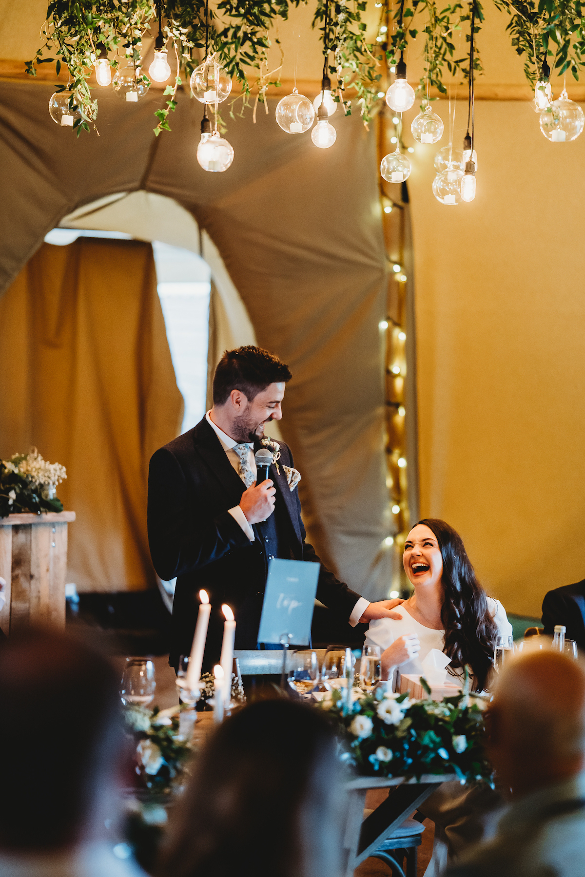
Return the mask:
[[[160,873],[339,877],[340,773],[316,710],[285,700],[242,709],[198,756]]]

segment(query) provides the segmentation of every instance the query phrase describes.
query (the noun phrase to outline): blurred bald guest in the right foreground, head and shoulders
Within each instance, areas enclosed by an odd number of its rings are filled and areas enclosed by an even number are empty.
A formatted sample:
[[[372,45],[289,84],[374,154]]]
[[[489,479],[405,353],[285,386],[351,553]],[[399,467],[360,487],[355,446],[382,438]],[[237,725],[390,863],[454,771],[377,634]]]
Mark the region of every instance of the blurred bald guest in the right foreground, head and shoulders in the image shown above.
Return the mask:
[[[503,667],[489,757],[511,805],[496,836],[448,873],[577,877],[585,861],[585,667],[552,649]]]

